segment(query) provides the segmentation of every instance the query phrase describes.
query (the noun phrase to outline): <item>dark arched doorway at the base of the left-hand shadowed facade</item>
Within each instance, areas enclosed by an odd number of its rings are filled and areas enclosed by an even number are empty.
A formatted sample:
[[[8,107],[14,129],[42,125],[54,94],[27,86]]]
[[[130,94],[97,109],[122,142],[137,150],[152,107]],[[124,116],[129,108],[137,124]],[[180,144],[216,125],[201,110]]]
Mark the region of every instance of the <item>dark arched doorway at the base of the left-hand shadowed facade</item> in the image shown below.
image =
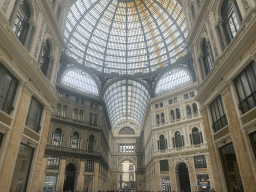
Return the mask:
[[[75,177],[76,177],[76,167],[72,163],[70,163],[66,167],[63,191],[72,191],[72,192],[74,191]]]

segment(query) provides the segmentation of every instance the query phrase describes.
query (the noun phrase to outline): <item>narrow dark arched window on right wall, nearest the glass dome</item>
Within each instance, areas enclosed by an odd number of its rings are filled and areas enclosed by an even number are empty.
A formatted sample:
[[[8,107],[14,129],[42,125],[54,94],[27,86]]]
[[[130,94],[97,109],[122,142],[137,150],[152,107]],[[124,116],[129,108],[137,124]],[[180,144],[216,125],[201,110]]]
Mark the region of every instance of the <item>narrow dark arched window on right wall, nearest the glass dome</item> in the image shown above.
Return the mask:
[[[210,44],[206,42],[206,39],[204,39],[202,43],[202,52],[203,52],[203,62],[204,62],[203,65],[206,73],[205,75],[207,75],[212,69],[213,57],[212,57]]]

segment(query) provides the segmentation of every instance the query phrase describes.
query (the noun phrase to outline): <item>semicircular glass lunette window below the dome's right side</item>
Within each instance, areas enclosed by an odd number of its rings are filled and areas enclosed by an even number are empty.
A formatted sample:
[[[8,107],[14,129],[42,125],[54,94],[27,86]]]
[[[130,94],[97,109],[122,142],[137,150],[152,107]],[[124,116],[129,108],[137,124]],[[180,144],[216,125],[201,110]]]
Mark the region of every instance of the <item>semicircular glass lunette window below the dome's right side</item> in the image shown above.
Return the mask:
[[[161,77],[157,83],[155,93],[156,95],[161,95],[170,90],[192,83],[192,81],[192,77],[187,71],[183,69],[173,69]]]

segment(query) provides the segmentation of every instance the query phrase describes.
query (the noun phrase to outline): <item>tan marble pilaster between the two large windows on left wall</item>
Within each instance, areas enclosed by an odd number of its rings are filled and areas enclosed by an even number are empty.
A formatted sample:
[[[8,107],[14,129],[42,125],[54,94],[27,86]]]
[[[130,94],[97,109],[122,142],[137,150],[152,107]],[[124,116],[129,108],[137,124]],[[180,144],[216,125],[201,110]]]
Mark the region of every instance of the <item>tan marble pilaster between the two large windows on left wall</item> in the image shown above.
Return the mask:
[[[7,152],[3,159],[2,170],[0,172],[0,189],[9,191],[12,181],[16,158],[18,155],[22,132],[26,120],[27,111],[31,100],[31,93],[22,90],[18,110],[15,119],[13,119],[13,127],[10,133],[9,143],[7,144]]]

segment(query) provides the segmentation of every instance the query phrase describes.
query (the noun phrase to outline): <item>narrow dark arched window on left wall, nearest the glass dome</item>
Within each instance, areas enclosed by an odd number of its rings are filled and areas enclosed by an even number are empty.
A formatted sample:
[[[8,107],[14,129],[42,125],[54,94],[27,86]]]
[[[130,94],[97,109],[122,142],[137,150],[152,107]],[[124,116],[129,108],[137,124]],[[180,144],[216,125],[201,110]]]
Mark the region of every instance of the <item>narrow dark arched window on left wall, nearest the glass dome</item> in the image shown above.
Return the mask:
[[[43,43],[42,48],[41,48],[41,55],[39,57],[39,64],[40,68],[43,72],[43,74],[46,76],[48,69],[49,69],[49,64],[50,64],[50,42],[47,39],[45,43]]]

